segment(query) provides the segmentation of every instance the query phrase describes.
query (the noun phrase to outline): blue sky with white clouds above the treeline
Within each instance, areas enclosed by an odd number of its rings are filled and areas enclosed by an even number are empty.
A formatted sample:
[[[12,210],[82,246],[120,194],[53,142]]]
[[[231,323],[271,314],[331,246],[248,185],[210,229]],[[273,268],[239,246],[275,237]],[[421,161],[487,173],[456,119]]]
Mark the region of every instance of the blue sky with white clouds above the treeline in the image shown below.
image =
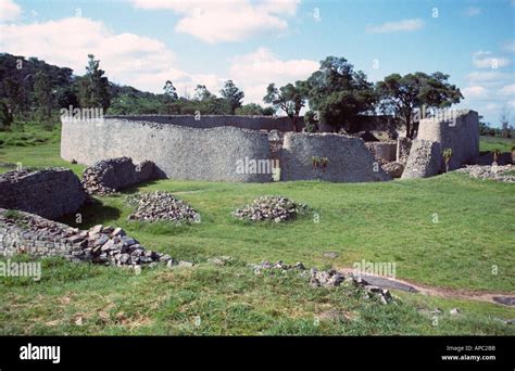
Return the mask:
[[[180,94],[226,79],[262,103],[268,82],[306,78],[327,55],[377,81],[441,71],[495,126],[515,113],[515,0],[21,1],[0,0],[0,51],[84,73],[88,53],[109,78]],[[513,118],[512,118],[513,119]]]

